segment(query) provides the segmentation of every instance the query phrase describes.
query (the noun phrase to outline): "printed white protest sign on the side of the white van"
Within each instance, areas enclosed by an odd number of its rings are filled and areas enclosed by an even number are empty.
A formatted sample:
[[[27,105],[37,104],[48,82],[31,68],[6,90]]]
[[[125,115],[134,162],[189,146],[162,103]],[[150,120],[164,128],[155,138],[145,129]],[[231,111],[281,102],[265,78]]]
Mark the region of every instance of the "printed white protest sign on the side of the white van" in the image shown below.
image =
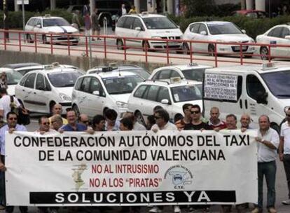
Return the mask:
[[[237,101],[237,76],[205,74],[204,98]]]

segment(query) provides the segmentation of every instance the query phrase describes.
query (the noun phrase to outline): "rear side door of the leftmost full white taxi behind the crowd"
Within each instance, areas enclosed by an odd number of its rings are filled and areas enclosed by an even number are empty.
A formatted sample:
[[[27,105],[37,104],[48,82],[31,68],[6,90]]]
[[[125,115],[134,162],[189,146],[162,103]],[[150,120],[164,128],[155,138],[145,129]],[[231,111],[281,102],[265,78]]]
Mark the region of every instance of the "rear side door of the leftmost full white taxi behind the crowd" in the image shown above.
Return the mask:
[[[36,111],[36,108],[37,108],[34,105],[35,97],[33,94],[35,78],[36,78],[36,73],[29,74],[29,76],[27,76],[26,78],[22,91],[20,91],[23,95],[22,102],[25,104],[25,107],[29,111]]]

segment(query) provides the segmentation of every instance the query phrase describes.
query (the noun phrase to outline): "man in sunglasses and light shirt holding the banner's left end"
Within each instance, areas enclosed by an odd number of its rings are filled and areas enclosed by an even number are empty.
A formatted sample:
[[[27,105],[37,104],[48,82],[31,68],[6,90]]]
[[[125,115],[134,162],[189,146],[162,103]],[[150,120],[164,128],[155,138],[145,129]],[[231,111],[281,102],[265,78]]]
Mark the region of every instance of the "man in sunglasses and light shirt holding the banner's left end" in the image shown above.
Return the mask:
[[[13,133],[14,131],[22,131],[22,132],[27,132],[27,129],[25,128],[24,125],[19,125],[17,124],[18,116],[15,114],[15,112],[11,111],[8,112],[7,116],[7,125],[4,125],[0,129],[0,149],[1,149],[1,158],[0,158],[0,175],[1,175],[1,195],[4,195],[4,204],[6,203],[6,198],[5,198],[5,133]],[[27,212],[27,207],[19,207],[20,212],[24,213]],[[13,206],[7,206],[6,207],[6,212],[11,213],[13,212],[14,207]]]

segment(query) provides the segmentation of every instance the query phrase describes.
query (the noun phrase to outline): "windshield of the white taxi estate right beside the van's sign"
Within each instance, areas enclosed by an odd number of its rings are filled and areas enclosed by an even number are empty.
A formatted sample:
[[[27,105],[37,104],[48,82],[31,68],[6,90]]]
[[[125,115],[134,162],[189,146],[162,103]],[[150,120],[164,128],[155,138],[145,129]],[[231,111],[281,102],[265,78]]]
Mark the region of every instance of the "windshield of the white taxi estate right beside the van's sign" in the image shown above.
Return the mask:
[[[190,102],[202,99],[202,85],[181,85],[171,88],[174,102]]]

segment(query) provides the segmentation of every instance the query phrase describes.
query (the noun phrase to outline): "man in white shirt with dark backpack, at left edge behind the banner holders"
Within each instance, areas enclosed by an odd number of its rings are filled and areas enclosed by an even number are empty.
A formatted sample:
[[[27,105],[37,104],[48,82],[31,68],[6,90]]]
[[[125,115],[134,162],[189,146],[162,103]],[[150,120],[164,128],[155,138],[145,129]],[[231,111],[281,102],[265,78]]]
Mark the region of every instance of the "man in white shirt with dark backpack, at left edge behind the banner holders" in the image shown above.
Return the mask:
[[[5,88],[0,88],[0,116],[3,117],[3,120],[6,122],[6,116],[9,111],[11,111],[11,105],[15,107],[15,109],[18,109],[21,107],[20,103],[18,102],[18,99],[13,97],[13,103],[11,104],[11,96],[8,95],[7,90]]]

